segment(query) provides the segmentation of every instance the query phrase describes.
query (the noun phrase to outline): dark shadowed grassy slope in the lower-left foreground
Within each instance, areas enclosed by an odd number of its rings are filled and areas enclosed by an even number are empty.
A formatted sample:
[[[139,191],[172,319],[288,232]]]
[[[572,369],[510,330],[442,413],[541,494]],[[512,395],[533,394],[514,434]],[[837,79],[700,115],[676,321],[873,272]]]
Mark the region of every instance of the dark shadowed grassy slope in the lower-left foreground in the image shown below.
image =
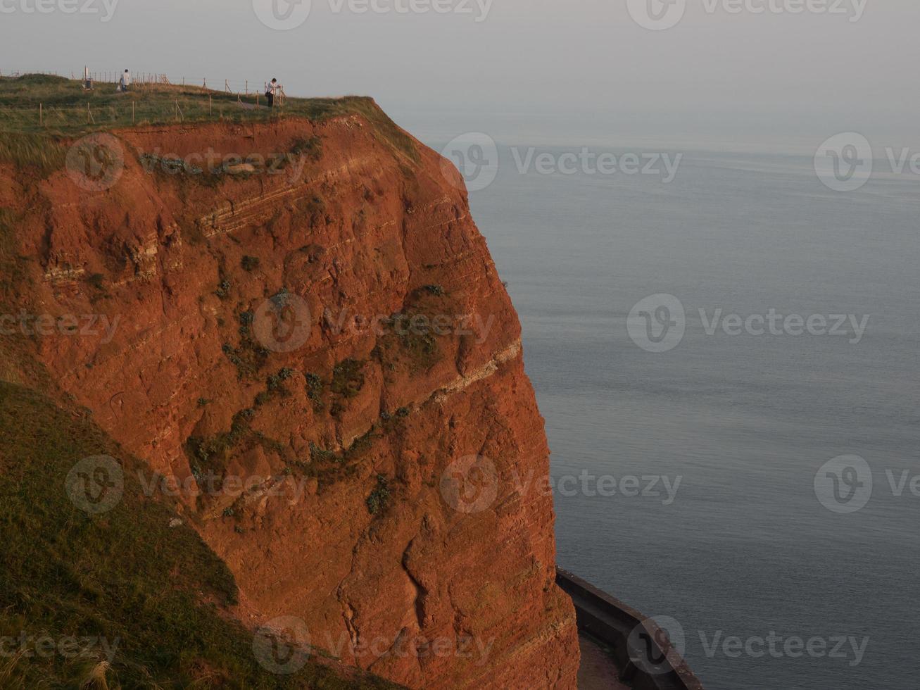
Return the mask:
[[[124,495],[91,515],[65,477],[98,454],[121,462]],[[394,687],[312,660],[290,676],[263,669],[225,608],[230,571],[188,526],[169,527],[176,513],[144,495],[140,467],[95,425],[0,382],[0,687]],[[72,658],[68,638],[88,655]],[[101,638],[115,648],[108,669]]]

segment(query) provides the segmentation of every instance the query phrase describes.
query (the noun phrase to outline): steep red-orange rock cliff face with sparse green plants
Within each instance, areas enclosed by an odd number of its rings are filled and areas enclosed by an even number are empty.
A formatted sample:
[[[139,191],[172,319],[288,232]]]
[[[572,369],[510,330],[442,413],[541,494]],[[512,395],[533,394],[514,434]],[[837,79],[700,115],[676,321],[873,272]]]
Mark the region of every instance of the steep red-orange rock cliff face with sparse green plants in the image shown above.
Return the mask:
[[[58,319],[8,337],[172,477],[142,480],[244,622],[411,687],[574,688],[543,422],[453,167],[357,114],[117,142],[108,189],[0,167],[17,305]]]

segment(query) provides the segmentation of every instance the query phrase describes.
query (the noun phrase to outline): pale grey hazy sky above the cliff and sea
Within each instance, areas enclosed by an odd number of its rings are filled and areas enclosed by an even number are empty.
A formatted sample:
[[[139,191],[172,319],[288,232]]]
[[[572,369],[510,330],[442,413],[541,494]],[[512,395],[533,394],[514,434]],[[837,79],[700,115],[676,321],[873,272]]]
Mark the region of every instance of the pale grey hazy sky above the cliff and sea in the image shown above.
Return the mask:
[[[916,138],[917,0],[312,0],[308,15],[255,2],[0,0],[0,70],[86,63],[209,86],[277,76],[292,95],[374,96],[410,126],[493,121],[575,140]],[[443,12],[397,11],[412,3]],[[70,11],[84,6],[97,12]],[[305,18],[296,29],[257,16],[289,10]],[[655,13],[679,21],[633,18]]]

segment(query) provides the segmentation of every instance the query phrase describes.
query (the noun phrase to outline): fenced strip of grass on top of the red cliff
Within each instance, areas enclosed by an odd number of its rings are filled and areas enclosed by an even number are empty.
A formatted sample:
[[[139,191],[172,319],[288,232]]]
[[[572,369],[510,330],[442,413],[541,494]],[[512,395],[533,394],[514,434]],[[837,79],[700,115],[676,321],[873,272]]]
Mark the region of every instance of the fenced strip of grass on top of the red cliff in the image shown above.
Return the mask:
[[[65,148],[58,143],[90,132],[180,122],[324,121],[341,115],[362,115],[387,144],[418,160],[411,137],[373,98],[288,97],[283,108],[274,109],[265,108],[264,97],[259,98],[261,107],[256,108],[255,95],[239,102],[236,94],[200,86],[137,84],[128,93],[118,93],[114,84],[98,82],[92,91],[84,91],[80,81],[62,76],[0,77],[0,161],[43,170],[61,167]]]

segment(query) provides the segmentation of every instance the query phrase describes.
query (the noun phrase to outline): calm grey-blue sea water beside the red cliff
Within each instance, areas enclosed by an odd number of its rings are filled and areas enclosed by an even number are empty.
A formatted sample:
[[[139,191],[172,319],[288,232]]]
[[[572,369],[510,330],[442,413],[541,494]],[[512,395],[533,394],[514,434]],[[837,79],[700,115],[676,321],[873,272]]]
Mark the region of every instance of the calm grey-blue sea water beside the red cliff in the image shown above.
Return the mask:
[[[811,156],[691,150],[669,184],[521,174],[500,145],[471,202],[521,316],[552,475],[576,477],[556,492],[559,563],[676,621],[709,690],[920,687],[920,498],[886,474],[920,474],[920,179],[840,194]],[[663,353],[627,332],[656,293],[686,314]],[[852,326],[708,335],[719,308],[869,321],[858,343]],[[815,491],[844,454],[873,479],[857,512]],[[600,495],[602,476],[659,476],[661,495],[648,479]]]

